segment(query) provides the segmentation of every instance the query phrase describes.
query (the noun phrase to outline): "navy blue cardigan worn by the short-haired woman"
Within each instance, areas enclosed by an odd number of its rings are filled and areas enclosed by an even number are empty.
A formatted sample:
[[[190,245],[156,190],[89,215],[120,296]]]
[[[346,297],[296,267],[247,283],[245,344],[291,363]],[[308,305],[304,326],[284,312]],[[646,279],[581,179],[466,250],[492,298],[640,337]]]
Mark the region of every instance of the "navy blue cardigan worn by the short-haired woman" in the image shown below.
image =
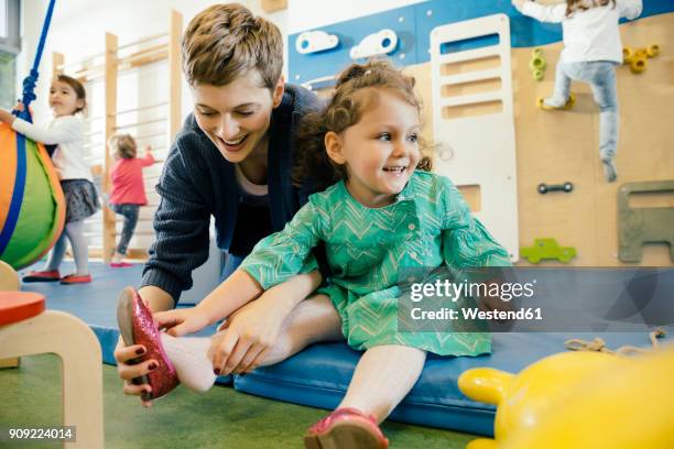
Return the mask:
[[[313,92],[286,85],[281,105],[272,111],[268,184],[274,231],[283,229],[312,191],[311,186],[303,186],[301,191],[295,188],[291,171],[297,124],[319,107]],[[233,164],[222,157],[193,114],[171,146],[156,190],[162,199],[154,215],[155,241],[141,286],[155,285],[177,303],[181,293],[192,287],[192,271],[208,259],[210,216],[215,217],[218,248],[227,251],[239,205]]]

